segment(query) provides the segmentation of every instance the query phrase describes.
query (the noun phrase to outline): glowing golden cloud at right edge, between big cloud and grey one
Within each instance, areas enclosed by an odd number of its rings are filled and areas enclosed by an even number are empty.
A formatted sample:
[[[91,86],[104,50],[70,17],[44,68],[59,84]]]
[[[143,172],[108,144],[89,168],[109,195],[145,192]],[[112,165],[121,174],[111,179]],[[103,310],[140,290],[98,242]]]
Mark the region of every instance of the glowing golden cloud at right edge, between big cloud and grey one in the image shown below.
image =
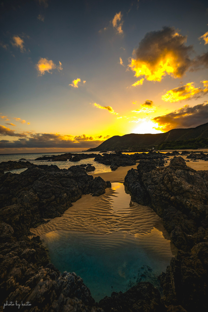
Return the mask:
[[[208,80],[201,81],[204,89],[201,87],[195,88],[194,82],[189,82],[186,85],[167,91],[162,95],[161,99],[166,102],[178,102],[181,100],[198,99],[208,93]]]

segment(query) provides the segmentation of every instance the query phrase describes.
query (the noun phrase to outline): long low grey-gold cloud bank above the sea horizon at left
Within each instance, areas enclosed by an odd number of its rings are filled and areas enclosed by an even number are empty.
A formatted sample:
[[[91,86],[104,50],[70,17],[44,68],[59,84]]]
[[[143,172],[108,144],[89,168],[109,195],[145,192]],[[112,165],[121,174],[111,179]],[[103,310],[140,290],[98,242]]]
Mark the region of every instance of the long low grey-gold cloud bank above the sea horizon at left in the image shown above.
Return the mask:
[[[5,128],[5,127],[4,127]],[[8,129],[8,128],[6,128]],[[1,130],[1,128],[0,128]],[[9,129],[10,130],[10,129]],[[13,132],[12,130],[10,130]],[[14,132],[13,132],[14,133]],[[3,135],[12,135],[12,134],[3,134]],[[26,134],[23,134],[26,136]],[[18,136],[13,134],[12,136]],[[102,136],[99,136],[102,138]],[[36,133],[30,134],[30,137],[20,138],[16,141],[1,140],[0,149],[4,148],[90,148],[96,147],[105,139],[108,139],[109,136],[104,137],[99,140],[91,136],[86,136],[82,134],[80,136],[72,135],[61,135],[61,134],[50,134],[50,133]]]

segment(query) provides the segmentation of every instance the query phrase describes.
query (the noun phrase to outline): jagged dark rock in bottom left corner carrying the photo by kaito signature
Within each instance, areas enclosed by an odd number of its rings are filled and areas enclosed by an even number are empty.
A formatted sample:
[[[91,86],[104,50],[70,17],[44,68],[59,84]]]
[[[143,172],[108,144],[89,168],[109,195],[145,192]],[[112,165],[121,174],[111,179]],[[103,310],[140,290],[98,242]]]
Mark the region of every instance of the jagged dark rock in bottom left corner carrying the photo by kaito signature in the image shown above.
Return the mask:
[[[94,299],[79,276],[73,272],[61,274],[48,263],[40,236],[32,240],[24,236],[17,241],[12,227],[0,223],[0,238],[5,240],[5,233],[7,242],[0,245],[1,311],[6,301],[17,301],[18,311],[103,312],[94,306]],[[29,310],[21,305],[27,301],[31,304]]]

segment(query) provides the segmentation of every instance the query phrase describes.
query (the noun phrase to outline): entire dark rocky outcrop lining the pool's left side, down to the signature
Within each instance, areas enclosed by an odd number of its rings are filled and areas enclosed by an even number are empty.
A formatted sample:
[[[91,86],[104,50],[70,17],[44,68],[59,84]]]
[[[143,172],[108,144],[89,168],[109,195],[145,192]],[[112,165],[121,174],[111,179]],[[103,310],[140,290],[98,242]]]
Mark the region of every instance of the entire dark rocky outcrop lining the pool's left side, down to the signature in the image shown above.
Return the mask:
[[[99,196],[109,182],[93,178],[80,166],[68,170],[55,165],[34,165],[20,174],[0,178],[0,290],[1,307],[23,303],[19,311],[103,312],[83,280],[75,273],[61,274],[49,264],[40,237],[31,240],[29,229],[59,217],[82,194]],[[9,307],[7,307],[9,308]],[[5,307],[6,309],[6,307]],[[28,309],[28,310],[27,310]]]

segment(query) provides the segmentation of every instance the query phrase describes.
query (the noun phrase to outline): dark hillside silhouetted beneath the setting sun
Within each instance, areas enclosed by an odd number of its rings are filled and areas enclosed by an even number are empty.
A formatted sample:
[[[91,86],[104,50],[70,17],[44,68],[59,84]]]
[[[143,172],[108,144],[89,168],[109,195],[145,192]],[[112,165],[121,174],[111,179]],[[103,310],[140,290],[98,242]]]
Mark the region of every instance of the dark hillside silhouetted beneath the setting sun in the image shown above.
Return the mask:
[[[187,128],[187,129],[172,129],[165,133],[157,134],[125,134],[123,136],[114,135],[112,138],[104,141],[98,147],[91,149],[90,151],[114,151],[114,150],[131,150],[139,148],[152,149],[152,147],[160,147],[163,142],[178,142],[177,145],[186,144],[186,141],[191,142],[200,142],[199,138],[206,139],[208,138],[208,123],[201,124],[196,128]],[[181,143],[182,142],[182,143]],[[205,140],[203,140],[205,142]],[[190,143],[190,142],[189,142]],[[171,146],[173,146],[172,144]],[[190,144],[189,144],[190,145]],[[164,146],[168,146],[165,144]],[[202,146],[199,146],[202,147]],[[206,147],[206,146],[205,146]],[[167,147],[166,147],[167,148]]]

